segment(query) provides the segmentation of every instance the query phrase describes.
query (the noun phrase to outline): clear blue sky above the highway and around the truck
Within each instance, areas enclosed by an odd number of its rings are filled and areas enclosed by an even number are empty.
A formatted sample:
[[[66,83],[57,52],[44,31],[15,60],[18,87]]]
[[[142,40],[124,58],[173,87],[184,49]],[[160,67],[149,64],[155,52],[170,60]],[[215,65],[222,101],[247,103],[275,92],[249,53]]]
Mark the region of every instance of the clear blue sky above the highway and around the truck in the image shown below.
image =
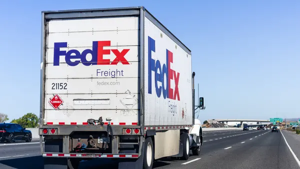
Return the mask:
[[[199,119],[300,116],[299,0],[2,1],[0,112],[39,114],[42,10],[140,5],[191,49]]]

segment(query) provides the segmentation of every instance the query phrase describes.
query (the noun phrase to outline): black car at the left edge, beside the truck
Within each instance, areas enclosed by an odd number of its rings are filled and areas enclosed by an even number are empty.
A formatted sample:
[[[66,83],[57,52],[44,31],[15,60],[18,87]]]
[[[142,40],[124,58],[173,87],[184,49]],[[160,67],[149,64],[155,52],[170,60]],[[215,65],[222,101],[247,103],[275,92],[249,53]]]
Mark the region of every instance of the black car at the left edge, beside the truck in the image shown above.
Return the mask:
[[[15,123],[0,123],[0,142],[14,142],[18,140],[30,142],[31,139],[31,131],[26,130],[26,128],[23,128],[21,125]]]

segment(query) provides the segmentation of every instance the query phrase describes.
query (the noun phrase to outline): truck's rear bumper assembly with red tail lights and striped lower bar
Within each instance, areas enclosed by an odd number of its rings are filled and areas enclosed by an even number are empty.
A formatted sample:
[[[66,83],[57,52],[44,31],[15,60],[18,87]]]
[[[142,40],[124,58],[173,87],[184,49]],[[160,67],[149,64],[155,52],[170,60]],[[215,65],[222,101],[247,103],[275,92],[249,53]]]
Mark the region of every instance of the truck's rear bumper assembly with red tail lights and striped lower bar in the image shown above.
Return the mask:
[[[59,125],[46,125],[39,128],[41,155],[43,157],[67,157],[67,158],[138,158],[141,152],[141,145],[143,136],[141,133],[143,130],[138,125],[78,125],[78,126],[59,126]],[[51,134],[50,132],[43,134],[42,129],[55,128],[57,132]],[[107,128],[110,130],[107,132]],[[138,134],[124,134],[125,128],[140,128]],[[111,132],[112,130],[112,132]],[[133,130],[132,130],[133,132]],[[108,143],[107,149],[99,148],[91,150],[90,147],[87,150],[74,149],[80,142],[80,145],[88,145],[86,138],[90,134],[93,135],[93,139],[97,144],[96,147],[101,147],[98,136],[109,133],[110,143]],[[79,135],[78,135],[79,134]],[[44,137],[44,144],[42,143],[42,137]],[[106,137],[106,136],[104,136]],[[126,137],[126,138],[125,138]],[[127,137],[130,137],[127,138]],[[129,140],[128,142],[126,140]],[[121,141],[122,140],[122,141]],[[130,140],[136,140],[136,142],[130,142]],[[81,148],[79,148],[81,149]]]

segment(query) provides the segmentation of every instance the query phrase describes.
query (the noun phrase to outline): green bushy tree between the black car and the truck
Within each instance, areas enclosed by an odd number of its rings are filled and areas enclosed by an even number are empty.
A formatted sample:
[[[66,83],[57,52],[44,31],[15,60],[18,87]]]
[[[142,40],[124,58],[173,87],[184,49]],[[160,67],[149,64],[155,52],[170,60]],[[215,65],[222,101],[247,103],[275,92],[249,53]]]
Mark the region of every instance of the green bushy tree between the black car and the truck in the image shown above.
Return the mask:
[[[11,123],[17,123],[26,128],[35,128],[38,125],[38,117],[32,112],[28,112],[18,119],[11,120]]]

